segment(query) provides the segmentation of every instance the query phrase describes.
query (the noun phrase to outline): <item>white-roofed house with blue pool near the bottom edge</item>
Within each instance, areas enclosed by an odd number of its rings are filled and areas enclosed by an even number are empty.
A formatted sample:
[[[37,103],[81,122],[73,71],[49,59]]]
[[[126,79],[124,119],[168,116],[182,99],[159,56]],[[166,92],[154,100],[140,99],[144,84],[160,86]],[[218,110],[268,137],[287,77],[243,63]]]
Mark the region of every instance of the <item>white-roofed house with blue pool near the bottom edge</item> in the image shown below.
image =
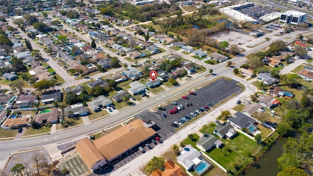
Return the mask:
[[[199,165],[203,165],[203,163],[205,163],[207,165],[207,168],[203,168],[203,170],[198,173],[199,175],[203,174],[210,167],[212,167],[212,164],[201,155],[201,152],[193,148],[190,144],[186,145],[184,149],[180,152],[180,155],[177,157],[177,161],[184,168],[186,168],[187,171],[193,168],[196,172],[198,172],[196,168]]]

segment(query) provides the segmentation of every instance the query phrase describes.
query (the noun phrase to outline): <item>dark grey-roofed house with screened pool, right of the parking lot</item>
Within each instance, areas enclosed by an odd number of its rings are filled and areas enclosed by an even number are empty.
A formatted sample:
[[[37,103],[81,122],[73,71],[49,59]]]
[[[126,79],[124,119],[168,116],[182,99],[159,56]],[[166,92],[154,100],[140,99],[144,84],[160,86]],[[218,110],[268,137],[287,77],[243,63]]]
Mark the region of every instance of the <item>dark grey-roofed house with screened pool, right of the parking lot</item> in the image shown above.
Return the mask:
[[[242,112],[236,112],[232,117],[228,117],[227,122],[230,123],[232,126],[242,130],[248,129],[249,132],[252,130],[257,129],[257,125],[255,125],[255,119],[247,116]]]

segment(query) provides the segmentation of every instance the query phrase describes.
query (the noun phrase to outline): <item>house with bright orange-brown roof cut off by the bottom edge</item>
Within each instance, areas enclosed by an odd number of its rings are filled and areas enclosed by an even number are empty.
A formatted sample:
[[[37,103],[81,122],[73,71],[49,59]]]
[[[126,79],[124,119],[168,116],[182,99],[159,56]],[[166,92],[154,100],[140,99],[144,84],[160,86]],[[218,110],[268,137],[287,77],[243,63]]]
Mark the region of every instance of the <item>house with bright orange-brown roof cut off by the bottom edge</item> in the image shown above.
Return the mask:
[[[151,176],[188,176],[177,164],[172,160],[165,161],[164,171],[156,169],[152,171]]]

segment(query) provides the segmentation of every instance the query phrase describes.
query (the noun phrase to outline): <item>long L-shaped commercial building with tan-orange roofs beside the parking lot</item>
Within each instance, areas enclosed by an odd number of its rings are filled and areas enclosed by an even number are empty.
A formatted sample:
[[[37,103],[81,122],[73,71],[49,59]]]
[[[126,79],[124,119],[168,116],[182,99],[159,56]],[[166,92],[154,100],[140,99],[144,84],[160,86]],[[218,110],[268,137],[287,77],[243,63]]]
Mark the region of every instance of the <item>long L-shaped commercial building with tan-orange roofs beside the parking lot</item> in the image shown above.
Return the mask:
[[[124,154],[136,149],[138,145],[151,140],[156,131],[147,123],[137,119],[99,139],[90,141],[88,138],[76,144],[76,150],[93,172]]]

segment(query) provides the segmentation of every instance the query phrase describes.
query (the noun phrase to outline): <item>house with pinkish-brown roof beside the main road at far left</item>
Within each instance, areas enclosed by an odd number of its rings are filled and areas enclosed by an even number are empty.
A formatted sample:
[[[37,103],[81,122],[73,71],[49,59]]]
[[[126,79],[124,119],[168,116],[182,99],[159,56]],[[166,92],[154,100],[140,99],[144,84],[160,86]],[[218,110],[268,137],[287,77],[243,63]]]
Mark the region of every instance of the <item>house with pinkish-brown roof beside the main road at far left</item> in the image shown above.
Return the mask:
[[[38,124],[55,124],[59,122],[59,111],[57,108],[52,108],[50,112],[35,114],[35,122]]]

